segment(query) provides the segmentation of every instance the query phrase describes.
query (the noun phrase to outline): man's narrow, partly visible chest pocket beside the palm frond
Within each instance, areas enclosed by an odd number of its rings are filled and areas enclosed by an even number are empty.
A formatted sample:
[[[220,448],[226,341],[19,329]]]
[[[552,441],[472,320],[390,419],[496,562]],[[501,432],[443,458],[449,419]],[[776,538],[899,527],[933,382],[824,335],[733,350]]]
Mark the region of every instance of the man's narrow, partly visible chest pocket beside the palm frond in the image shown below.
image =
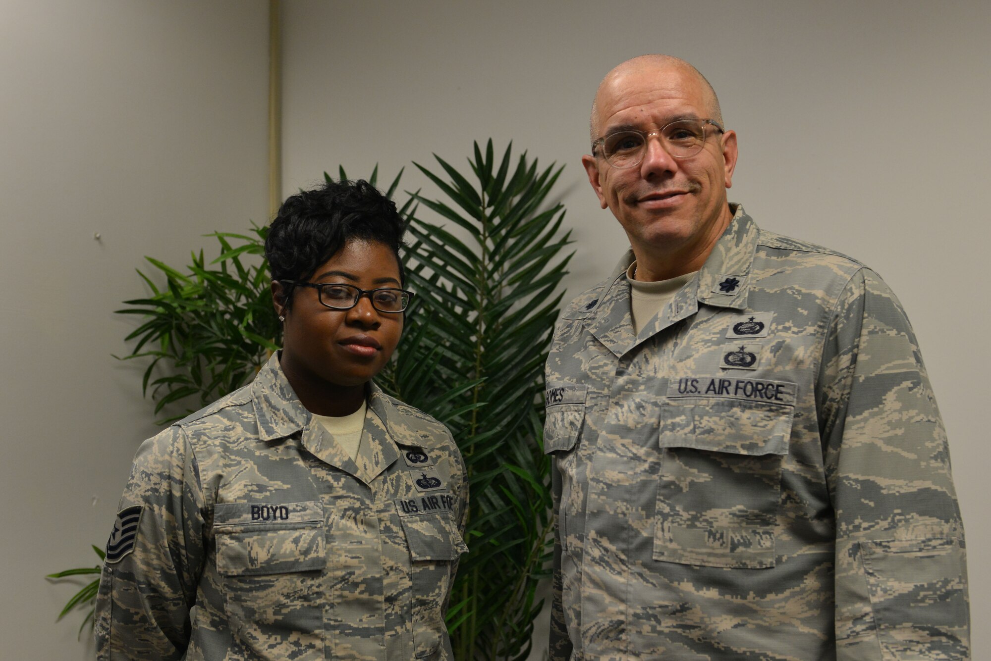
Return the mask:
[[[558,539],[561,550],[567,552],[578,541],[581,526],[569,527],[569,513],[583,509],[582,494],[575,488],[578,478],[578,444],[585,424],[585,406],[588,386],[585,384],[547,384],[545,392],[547,410],[544,420],[544,452],[553,454],[557,473],[561,478],[561,496],[557,503]],[[576,519],[578,520],[578,519]]]

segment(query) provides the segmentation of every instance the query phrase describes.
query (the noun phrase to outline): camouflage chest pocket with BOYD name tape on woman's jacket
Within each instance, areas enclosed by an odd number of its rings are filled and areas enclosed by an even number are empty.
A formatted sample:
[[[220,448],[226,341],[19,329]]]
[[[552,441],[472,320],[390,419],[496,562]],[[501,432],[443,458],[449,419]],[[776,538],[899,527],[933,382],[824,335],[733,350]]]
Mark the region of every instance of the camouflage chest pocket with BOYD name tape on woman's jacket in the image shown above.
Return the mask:
[[[323,659],[320,503],[218,504],[213,530],[225,609],[242,647],[260,659],[290,651],[293,659]],[[293,632],[291,649],[285,631]]]

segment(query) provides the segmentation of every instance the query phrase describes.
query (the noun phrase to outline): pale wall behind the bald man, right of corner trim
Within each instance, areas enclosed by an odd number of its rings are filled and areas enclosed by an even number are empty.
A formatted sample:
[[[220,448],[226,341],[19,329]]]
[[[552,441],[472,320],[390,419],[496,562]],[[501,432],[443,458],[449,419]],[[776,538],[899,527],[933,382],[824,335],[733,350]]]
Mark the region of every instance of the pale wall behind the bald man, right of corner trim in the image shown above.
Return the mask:
[[[579,162],[596,86],[643,52],[696,64],[739,135],[730,199],[766,229],[867,262],[909,311],[950,434],[974,657],[991,655],[981,506],[991,3],[292,0],[284,25],[286,193],[338,163],[356,176],[379,162],[391,175],[435,151],[465,167],[473,140],[512,139],[567,163],[572,292],[625,247]],[[407,188],[423,182],[407,168]]]

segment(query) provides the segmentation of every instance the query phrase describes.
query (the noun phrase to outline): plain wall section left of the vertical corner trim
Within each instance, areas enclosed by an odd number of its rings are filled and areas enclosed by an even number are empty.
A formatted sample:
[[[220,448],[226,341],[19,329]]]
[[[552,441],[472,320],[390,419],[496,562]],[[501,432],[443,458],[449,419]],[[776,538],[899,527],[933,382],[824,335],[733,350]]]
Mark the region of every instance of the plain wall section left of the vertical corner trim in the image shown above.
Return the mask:
[[[94,563],[156,428],[113,311],[143,255],[267,220],[268,3],[0,0],[0,62],[0,657],[91,658],[42,577]]]

